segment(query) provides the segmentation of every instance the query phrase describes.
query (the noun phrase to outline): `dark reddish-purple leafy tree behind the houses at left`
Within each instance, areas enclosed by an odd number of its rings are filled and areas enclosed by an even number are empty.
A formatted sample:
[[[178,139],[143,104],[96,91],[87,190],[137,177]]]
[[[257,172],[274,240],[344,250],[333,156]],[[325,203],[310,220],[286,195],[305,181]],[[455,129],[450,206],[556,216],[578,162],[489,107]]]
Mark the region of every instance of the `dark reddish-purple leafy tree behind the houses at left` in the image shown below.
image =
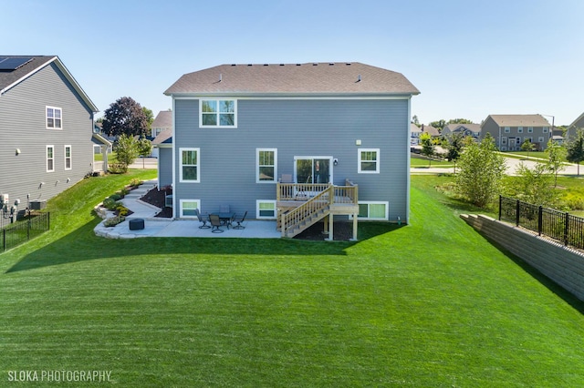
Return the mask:
[[[144,110],[130,97],[121,97],[104,112],[102,128],[109,136],[145,136],[150,125]]]

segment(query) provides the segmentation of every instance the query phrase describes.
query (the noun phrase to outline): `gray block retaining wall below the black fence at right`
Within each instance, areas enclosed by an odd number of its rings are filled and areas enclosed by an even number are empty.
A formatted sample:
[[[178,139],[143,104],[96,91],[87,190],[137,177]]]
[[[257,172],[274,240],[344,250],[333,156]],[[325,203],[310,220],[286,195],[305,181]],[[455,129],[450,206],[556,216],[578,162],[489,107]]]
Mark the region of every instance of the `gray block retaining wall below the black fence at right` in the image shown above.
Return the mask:
[[[460,217],[584,301],[584,253],[491,217],[475,214]]]

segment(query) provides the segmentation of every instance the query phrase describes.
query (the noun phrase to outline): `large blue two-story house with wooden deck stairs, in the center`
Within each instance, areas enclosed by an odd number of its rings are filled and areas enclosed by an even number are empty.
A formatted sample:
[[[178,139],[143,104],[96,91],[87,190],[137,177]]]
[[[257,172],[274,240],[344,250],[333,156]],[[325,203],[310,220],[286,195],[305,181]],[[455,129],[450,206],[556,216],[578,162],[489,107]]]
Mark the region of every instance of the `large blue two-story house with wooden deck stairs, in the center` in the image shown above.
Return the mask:
[[[343,214],[409,220],[410,106],[420,92],[400,73],[354,62],[222,65],[185,74],[164,93],[174,117],[175,218],[227,204],[281,223],[305,203],[294,199],[340,197],[328,184],[357,199],[352,182],[359,204]],[[323,211],[341,212],[336,203]],[[283,235],[295,233],[284,226]]]

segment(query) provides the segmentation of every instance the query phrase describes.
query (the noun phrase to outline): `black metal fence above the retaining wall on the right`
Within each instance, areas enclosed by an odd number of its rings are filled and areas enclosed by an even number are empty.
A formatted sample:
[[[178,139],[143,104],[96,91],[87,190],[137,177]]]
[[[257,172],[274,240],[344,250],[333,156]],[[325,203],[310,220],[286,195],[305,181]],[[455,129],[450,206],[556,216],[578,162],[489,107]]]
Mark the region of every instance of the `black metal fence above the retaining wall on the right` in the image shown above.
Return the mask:
[[[518,199],[499,197],[499,220],[536,231],[578,249],[584,249],[584,219]]]

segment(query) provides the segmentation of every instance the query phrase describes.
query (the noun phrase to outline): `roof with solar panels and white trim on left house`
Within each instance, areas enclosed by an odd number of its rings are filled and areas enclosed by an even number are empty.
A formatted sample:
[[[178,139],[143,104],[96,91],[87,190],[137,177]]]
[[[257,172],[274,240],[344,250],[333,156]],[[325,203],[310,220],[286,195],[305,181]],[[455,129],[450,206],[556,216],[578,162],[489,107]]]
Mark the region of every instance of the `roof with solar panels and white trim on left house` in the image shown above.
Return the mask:
[[[58,56],[8,56],[10,58],[30,58],[31,60],[26,62],[24,65],[17,67],[16,69],[0,70],[0,96],[5,94],[12,87],[16,87],[19,83],[24,81],[26,78],[31,77],[37,71],[49,66],[52,63],[58,67],[58,69],[67,78],[68,82],[75,88],[79,96],[88,105],[92,112],[99,112],[98,107],[89,99],[85,91],[79,86],[78,82],[75,80],[71,73],[69,73],[67,67],[63,65]]]

